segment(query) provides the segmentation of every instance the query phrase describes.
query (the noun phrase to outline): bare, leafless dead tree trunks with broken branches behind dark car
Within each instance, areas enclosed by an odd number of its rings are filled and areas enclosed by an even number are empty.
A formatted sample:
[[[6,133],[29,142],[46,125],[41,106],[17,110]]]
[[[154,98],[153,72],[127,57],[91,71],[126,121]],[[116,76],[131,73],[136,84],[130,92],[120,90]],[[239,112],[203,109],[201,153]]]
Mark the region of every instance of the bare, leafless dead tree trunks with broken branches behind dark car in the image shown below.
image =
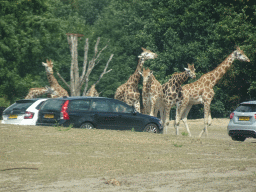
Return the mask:
[[[67,39],[68,39],[68,44],[70,47],[70,52],[72,56],[72,61],[70,65],[70,85],[61,77],[61,75],[58,73],[62,81],[67,85],[67,87],[70,89],[71,96],[80,96],[81,95],[81,89],[83,88],[84,84],[84,91],[83,91],[83,96],[86,95],[86,91],[88,88],[88,83],[89,83],[89,76],[95,67],[99,63],[99,57],[104,51],[108,45],[103,47],[100,51],[98,51],[98,45],[100,43],[100,38],[97,39],[97,42],[94,47],[94,56],[93,58],[89,61],[88,63],[88,49],[89,49],[89,40],[86,38],[85,40],[85,46],[84,46],[84,62],[83,62],[83,70],[82,70],[82,75],[79,76],[79,67],[78,67],[78,52],[77,52],[77,38],[82,37],[83,35],[81,34],[74,34],[74,33],[67,33]],[[100,79],[103,77],[103,75],[109,73],[112,69],[107,71],[109,62],[112,60],[112,57],[114,55],[111,54],[103,72],[101,73],[99,79],[97,82],[94,83],[96,85],[99,83]]]

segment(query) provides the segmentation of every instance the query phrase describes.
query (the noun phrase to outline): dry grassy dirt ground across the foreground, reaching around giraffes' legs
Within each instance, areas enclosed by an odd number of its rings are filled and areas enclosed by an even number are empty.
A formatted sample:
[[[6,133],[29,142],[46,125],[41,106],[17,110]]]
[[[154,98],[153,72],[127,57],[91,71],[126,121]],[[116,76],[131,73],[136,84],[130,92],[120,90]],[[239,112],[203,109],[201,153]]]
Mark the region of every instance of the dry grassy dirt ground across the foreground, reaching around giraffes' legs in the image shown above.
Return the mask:
[[[256,191],[256,140],[232,141],[229,119],[167,134],[0,123],[0,191]]]

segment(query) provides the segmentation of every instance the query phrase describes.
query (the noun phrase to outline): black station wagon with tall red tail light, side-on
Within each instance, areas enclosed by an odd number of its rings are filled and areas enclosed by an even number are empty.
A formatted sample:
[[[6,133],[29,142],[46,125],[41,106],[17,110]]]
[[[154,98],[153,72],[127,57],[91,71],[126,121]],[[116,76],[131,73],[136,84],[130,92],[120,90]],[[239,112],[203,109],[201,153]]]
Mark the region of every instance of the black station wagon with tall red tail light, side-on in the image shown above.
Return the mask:
[[[106,97],[48,99],[40,108],[36,125],[97,128],[159,133],[161,120],[138,113],[126,103]]]

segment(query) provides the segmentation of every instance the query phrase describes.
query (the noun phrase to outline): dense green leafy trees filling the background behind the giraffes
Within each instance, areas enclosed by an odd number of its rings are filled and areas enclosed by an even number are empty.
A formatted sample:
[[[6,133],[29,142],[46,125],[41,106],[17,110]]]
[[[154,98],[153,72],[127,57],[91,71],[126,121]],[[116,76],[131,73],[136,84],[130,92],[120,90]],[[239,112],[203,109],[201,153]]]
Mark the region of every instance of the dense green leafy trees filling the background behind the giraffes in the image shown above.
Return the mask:
[[[104,68],[101,63],[113,53],[112,71],[96,87],[106,97],[113,97],[134,72],[141,47],[158,54],[144,65],[165,83],[174,72],[184,71],[187,63],[195,64],[198,79],[239,45],[251,62],[235,61],[214,88],[212,115],[225,117],[239,102],[255,98],[255,14],[252,0],[3,0],[0,96],[14,101],[24,98],[31,87],[47,85],[41,64],[46,58],[52,59],[54,70],[69,81],[71,56],[66,33],[84,35],[78,43],[80,67],[85,38],[94,45],[101,37],[99,50],[109,45],[89,84],[98,79]],[[93,51],[90,48],[90,58]],[[202,105],[193,106],[189,118],[195,117],[203,117]]]

